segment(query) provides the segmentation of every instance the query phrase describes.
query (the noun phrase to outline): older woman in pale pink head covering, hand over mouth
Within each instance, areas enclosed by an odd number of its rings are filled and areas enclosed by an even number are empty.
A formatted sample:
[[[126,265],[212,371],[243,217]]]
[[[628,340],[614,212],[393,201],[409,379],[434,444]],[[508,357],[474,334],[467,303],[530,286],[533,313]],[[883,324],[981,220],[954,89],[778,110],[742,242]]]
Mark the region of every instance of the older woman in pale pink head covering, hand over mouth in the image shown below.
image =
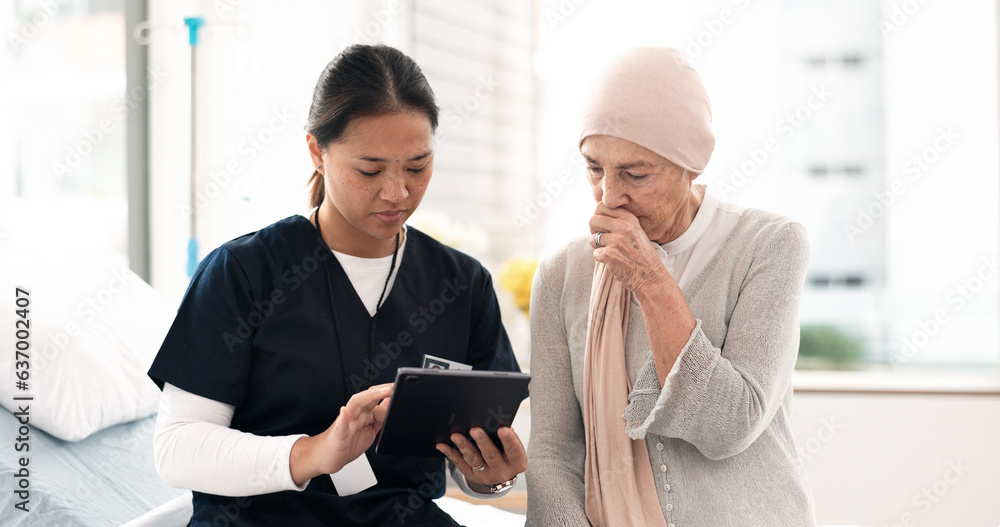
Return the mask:
[[[531,295],[527,525],[814,525],[789,430],[804,229],[694,184],[715,137],[676,50],[619,58],[583,121],[592,236]]]

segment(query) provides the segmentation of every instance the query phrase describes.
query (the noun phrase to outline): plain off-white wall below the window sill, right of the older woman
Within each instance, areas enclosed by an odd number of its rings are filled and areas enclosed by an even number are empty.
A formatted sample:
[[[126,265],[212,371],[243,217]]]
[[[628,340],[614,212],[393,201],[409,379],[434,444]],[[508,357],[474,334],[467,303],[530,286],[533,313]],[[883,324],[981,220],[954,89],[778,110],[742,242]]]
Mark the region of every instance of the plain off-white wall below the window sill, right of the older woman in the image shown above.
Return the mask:
[[[819,525],[1000,525],[1000,395],[796,393],[792,412]]]

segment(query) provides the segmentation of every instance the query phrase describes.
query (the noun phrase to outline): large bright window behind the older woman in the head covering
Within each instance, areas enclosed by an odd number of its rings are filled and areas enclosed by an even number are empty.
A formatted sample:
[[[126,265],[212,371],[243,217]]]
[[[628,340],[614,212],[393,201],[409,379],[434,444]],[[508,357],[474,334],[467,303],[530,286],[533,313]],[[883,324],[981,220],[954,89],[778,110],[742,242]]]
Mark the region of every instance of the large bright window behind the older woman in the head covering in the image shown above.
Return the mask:
[[[574,124],[587,75],[629,47],[671,46],[712,99],[717,145],[699,182],[809,231],[800,368],[997,366],[994,2],[540,8],[546,248],[588,232]]]

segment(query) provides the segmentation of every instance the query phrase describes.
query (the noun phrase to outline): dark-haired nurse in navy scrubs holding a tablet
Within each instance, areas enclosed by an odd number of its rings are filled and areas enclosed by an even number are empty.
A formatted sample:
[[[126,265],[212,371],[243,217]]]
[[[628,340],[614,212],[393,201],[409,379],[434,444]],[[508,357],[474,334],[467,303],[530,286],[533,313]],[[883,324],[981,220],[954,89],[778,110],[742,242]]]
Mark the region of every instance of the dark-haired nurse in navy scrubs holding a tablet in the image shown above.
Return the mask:
[[[489,273],[407,227],[434,165],[438,108],[387,46],[347,48],[309,111],[312,205],[202,261],[150,377],[154,457],[194,491],[189,525],[457,525],[432,501],[441,458],[375,453],[396,369],[423,354],[518,371]],[[438,445],[458,485],[506,492],[518,436]],[[374,485],[371,483],[374,482]]]

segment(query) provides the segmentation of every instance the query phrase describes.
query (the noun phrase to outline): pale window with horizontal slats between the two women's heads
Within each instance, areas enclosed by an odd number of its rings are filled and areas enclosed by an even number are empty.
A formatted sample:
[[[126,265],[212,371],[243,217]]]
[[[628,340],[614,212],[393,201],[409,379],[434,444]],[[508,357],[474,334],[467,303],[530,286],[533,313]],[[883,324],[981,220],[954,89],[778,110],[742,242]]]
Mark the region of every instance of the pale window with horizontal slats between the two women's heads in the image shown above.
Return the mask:
[[[534,240],[519,217],[536,152],[532,2],[417,0],[413,12],[412,56],[441,108],[434,181],[418,214],[481,229],[482,245],[459,248],[501,262]]]

